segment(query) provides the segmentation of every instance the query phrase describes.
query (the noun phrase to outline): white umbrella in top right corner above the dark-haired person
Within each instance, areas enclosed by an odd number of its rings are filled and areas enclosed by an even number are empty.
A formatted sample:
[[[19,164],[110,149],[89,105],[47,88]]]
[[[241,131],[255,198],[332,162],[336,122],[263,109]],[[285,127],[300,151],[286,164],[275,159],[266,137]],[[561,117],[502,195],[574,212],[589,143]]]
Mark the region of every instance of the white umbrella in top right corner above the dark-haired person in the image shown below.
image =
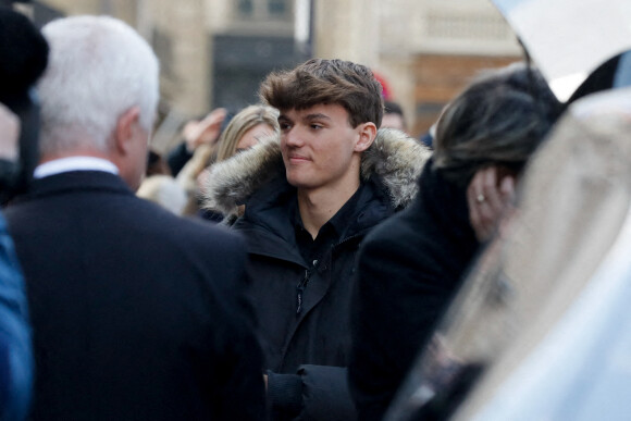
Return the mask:
[[[631,49],[629,0],[492,0],[560,101]]]

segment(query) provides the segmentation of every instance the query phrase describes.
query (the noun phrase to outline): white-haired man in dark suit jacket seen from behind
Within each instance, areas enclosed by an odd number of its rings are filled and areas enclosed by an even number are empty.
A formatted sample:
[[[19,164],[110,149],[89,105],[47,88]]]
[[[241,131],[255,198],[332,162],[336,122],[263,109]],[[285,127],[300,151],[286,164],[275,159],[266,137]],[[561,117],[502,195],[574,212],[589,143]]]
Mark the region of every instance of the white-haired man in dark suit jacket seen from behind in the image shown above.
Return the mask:
[[[158,102],[153,52],[111,17],[42,32],[41,159],[7,212],[32,310],[33,418],[261,419],[244,244],[133,193]]]

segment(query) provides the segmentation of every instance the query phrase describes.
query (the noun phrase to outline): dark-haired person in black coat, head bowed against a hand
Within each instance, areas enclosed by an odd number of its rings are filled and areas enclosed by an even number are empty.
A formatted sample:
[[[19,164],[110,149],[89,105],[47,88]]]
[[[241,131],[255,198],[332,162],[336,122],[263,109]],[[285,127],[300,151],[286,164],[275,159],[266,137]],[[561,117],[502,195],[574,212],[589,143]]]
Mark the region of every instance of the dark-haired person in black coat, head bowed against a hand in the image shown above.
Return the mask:
[[[521,64],[475,81],[444,111],[415,202],[360,250],[349,379],[361,420],[383,418],[479,249],[470,182],[510,185],[559,112],[541,74]],[[490,206],[483,193],[474,203]]]

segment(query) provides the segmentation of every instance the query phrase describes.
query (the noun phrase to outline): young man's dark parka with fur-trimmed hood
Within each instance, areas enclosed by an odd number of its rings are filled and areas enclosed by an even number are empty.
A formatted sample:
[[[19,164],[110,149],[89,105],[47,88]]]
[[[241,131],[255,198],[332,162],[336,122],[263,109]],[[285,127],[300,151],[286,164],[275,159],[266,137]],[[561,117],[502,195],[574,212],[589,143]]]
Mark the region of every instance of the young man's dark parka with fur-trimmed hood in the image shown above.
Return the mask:
[[[260,145],[211,171],[208,206],[225,211],[239,200],[246,203],[246,213],[233,227],[248,239],[250,298],[271,371],[271,404],[285,409],[275,411],[274,418],[356,418],[346,366],[357,250],[372,227],[411,201],[429,154],[400,132],[380,131],[362,158],[364,187],[342,239],[317,262],[305,261],[296,245],[290,216],[296,189],[285,179],[277,143]],[[258,181],[256,187],[244,189],[244,183],[251,179]],[[239,189],[244,191],[235,194]],[[302,286],[298,312],[298,287]],[[296,388],[302,395],[297,401],[292,398]]]

